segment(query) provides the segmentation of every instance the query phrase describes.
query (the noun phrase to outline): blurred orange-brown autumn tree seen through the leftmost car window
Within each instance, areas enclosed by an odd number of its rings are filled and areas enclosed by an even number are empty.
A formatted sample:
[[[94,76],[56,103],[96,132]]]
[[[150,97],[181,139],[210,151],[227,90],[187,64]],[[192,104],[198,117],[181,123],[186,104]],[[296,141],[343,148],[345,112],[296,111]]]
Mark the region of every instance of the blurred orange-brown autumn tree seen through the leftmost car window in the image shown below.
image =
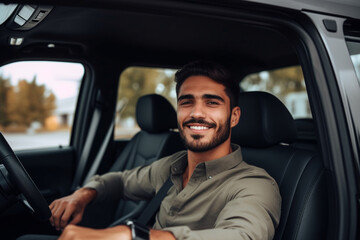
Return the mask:
[[[7,86],[7,87],[2,87]],[[1,108],[0,125],[10,124],[29,127],[32,122],[45,120],[55,109],[55,96],[48,93],[44,85],[38,85],[36,77],[31,82],[21,80],[17,86],[10,86],[8,80],[0,78]]]

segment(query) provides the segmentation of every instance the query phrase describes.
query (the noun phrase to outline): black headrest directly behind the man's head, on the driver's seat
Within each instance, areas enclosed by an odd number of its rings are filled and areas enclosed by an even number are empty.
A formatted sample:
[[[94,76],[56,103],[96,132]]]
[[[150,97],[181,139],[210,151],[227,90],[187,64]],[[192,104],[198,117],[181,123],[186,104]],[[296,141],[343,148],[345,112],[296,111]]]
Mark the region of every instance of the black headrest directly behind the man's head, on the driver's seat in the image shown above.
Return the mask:
[[[243,92],[239,96],[240,120],[232,141],[243,147],[263,148],[296,139],[293,117],[279,99],[266,92]]]

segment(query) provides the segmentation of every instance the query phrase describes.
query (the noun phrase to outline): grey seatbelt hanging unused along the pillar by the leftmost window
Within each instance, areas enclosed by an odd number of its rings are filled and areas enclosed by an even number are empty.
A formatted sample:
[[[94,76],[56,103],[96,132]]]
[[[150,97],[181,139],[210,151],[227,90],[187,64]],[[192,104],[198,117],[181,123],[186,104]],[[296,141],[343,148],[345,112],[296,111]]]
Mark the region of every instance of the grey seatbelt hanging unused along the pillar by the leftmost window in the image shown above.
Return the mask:
[[[94,113],[92,116],[92,120],[90,123],[89,132],[88,132],[85,144],[84,144],[83,151],[81,152],[79,164],[78,164],[76,172],[75,172],[74,181],[73,181],[72,188],[71,188],[73,190],[75,190],[77,187],[79,187],[82,173],[83,173],[83,171],[86,167],[86,163],[89,159],[89,154],[90,154],[91,147],[92,147],[94,139],[95,139],[96,130],[99,126],[102,108],[103,108],[102,96],[101,96],[101,92],[99,91],[96,96],[96,104],[95,104],[95,109],[94,109]]]

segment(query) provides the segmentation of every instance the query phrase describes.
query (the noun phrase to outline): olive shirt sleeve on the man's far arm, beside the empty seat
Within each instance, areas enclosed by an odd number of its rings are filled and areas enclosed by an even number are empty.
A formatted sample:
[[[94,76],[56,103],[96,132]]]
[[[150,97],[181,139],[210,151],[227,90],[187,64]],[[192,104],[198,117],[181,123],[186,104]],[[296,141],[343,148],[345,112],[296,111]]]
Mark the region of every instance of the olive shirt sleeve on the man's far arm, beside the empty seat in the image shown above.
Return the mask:
[[[135,201],[146,200],[155,195],[169,176],[169,171],[166,171],[169,162],[167,159],[164,158],[151,165],[132,170],[95,175],[83,187],[96,190],[94,202],[121,198]],[[163,167],[160,168],[159,165]]]

